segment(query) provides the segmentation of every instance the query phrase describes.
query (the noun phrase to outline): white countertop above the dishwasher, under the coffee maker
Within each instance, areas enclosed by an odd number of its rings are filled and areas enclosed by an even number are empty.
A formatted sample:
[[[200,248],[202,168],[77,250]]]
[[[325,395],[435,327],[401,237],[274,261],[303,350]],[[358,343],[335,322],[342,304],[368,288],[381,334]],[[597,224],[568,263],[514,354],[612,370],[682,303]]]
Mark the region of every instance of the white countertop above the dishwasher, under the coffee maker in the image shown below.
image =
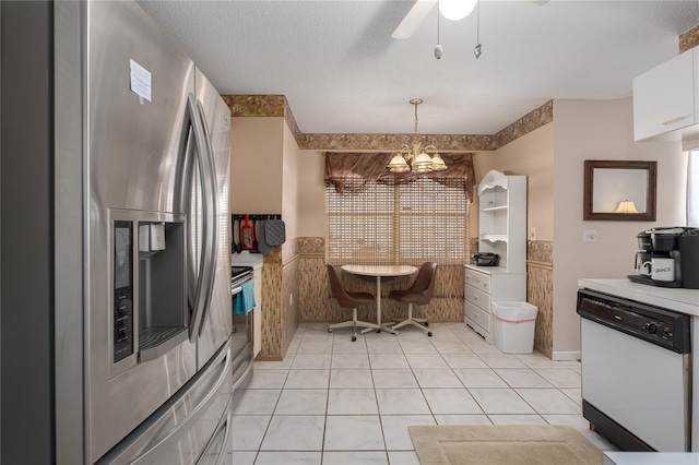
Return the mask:
[[[579,279],[578,286],[699,317],[699,289],[647,286],[628,279],[591,278]]]

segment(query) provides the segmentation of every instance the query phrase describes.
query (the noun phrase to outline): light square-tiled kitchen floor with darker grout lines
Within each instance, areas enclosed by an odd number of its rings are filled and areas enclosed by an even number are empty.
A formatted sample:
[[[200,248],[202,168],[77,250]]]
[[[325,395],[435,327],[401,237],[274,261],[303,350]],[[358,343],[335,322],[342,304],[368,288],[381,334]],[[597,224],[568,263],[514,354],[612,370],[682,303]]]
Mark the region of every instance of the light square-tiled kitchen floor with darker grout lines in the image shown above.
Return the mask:
[[[418,464],[411,425],[568,425],[580,362],[502,354],[462,323],[398,335],[300,324],[283,361],[256,361],[233,417],[234,464]]]

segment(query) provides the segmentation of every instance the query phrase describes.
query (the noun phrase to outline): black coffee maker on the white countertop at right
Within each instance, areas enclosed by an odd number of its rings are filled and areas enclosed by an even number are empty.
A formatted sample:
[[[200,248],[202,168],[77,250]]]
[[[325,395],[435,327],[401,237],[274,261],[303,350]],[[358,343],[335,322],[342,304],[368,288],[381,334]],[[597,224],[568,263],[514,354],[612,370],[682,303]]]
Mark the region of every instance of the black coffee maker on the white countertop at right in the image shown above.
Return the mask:
[[[662,287],[686,287],[699,289],[699,228],[657,227],[639,233],[639,251],[636,252],[636,283]],[[673,259],[674,278],[652,278],[653,259]]]

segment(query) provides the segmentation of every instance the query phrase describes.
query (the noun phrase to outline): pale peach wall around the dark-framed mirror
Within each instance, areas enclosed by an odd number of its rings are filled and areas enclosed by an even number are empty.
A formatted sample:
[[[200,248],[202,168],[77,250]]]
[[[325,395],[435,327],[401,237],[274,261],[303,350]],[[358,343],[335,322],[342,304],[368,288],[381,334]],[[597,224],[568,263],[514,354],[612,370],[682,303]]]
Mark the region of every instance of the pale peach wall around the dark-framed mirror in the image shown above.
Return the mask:
[[[579,278],[624,279],[633,272],[636,235],[685,225],[687,153],[679,143],[633,142],[631,98],[554,100],[554,357],[580,350]],[[657,162],[657,220],[582,219],[583,162]],[[596,229],[596,242],[583,242]]]

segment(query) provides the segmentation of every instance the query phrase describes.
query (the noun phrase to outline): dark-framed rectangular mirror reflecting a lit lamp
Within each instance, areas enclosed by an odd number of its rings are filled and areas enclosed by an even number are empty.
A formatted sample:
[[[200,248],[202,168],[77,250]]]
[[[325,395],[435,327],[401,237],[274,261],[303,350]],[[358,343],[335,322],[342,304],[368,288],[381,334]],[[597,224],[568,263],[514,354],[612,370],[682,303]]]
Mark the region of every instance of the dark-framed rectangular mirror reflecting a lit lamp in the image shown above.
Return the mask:
[[[582,219],[654,222],[657,162],[587,159]]]

